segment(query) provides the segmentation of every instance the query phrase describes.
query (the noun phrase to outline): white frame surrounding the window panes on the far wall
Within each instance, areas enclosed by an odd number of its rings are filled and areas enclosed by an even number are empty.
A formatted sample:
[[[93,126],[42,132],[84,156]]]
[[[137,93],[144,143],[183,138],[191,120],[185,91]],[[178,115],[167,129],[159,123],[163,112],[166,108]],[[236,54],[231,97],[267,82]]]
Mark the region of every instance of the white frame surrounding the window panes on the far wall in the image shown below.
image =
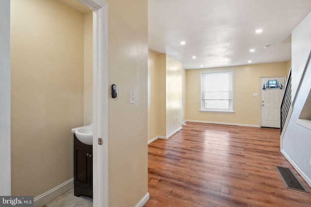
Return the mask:
[[[229,99],[229,109],[211,109],[211,108],[205,108],[205,100],[203,100],[203,86],[204,86],[204,80],[203,80],[203,76],[204,74],[216,74],[216,73],[229,73],[230,75],[230,83],[229,85],[231,86],[231,94],[229,94],[229,97],[231,97]],[[216,72],[201,72],[200,74],[200,79],[201,79],[201,88],[200,88],[200,92],[201,92],[201,96],[200,96],[200,102],[201,102],[201,108],[200,111],[212,111],[212,112],[234,112],[234,73],[233,70],[227,70],[227,71],[216,71]],[[230,90],[229,90],[230,93]]]

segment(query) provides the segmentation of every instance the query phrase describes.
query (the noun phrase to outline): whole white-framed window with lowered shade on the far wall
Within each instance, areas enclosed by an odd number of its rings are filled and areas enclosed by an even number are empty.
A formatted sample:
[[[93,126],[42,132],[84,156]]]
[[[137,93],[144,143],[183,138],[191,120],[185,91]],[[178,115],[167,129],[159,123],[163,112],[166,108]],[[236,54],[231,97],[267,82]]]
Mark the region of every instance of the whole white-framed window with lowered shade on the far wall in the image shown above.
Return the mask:
[[[201,73],[201,111],[233,112],[233,71]]]

